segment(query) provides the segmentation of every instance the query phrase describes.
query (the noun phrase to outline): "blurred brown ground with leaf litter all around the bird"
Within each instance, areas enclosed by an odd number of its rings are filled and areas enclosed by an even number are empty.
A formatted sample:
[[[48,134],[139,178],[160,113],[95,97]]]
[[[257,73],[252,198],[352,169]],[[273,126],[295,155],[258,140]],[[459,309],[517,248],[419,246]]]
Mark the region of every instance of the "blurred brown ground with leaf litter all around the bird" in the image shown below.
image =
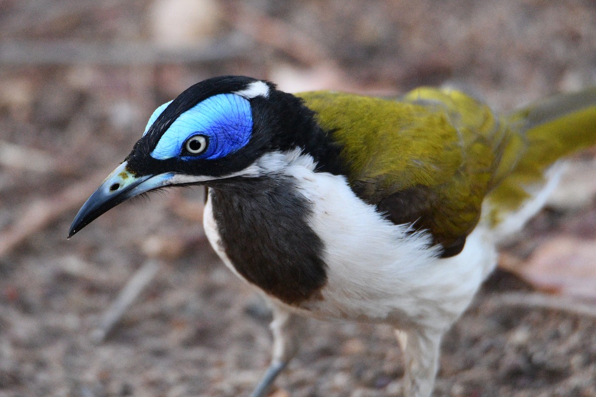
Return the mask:
[[[259,378],[269,312],[207,246],[201,189],[122,205],[65,239],[154,108],[218,74],[383,95],[451,82],[510,110],[596,85],[596,4],[0,1],[1,397],[237,396]],[[533,285],[492,277],[443,343],[434,395],[596,396],[594,295],[574,288],[596,267],[593,154],[505,249]],[[570,257],[592,274],[558,285]],[[150,259],[157,275],[94,343]],[[536,303],[536,286],[555,295]],[[396,395],[400,360],[390,329],[313,321],[274,396]]]

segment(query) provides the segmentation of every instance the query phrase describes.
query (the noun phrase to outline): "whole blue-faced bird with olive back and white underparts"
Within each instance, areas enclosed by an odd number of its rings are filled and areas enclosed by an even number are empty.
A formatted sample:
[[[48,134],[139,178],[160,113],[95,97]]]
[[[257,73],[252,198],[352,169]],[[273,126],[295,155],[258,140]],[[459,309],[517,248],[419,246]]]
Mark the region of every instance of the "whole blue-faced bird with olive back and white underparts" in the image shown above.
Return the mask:
[[[497,114],[449,87],[396,98],[198,82],[153,112],[72,237],[150,190],[206,186],[204,229],[272,307],[265,397],[308,317],[389,324],[406,397],[433,392],[442,336],[544,206],[561,159],[596,144],[596,89]]]

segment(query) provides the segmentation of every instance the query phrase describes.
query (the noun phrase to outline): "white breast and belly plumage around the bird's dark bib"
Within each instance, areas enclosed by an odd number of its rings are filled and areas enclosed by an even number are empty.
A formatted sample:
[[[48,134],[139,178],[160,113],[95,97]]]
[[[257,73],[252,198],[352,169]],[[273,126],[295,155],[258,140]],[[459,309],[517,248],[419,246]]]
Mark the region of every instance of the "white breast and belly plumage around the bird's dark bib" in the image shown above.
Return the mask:
[[[344,177],[316,173],[312,163],[299,158],[284,173],[296,178],[300,192],[313,204],[309,223],[324,242],[327,264],[322,299],[299,308],[288,306],[291,310],[402,329],[421,325],[445,329],[465,310],[495,265],[496,252],[482,226],[468,236],[460,254],[440,259],[439,251],[429,247],[429,235],[408,233],[407,225],[385,220],[373,205],[356,197]],[[219,242],[210,201],[204,224],[211,245],[238,275]]]

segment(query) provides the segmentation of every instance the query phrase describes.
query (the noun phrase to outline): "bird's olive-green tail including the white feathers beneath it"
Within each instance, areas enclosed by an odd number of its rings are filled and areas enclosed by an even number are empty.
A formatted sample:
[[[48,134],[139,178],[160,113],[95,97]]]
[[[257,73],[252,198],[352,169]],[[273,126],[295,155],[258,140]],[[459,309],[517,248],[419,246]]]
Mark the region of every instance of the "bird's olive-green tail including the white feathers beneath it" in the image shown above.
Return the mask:
[[[504,154],[505,160],[515,165],[487,197],[489,208],[484,215],[493,227],[506,218],[517,218],[521,228],[544,205],[547,190],[554,188],[557,167],[553,165],[596,145],[596,88],[552,96],[506,115],[502,121],[518,138]]]

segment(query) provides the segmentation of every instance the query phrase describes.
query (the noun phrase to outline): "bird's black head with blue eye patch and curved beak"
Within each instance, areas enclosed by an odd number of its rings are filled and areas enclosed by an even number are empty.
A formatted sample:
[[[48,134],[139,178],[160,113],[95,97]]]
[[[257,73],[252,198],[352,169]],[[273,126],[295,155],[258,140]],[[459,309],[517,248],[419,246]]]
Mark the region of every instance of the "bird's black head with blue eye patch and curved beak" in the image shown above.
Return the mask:
[[[266,155],[306,150],[304,133],[315,125],[299,99],[272,83],[241,76],[197,83],[153,112],[126,160],[83,204],[69,237],[149,190],[258,177],[274,164]]]

